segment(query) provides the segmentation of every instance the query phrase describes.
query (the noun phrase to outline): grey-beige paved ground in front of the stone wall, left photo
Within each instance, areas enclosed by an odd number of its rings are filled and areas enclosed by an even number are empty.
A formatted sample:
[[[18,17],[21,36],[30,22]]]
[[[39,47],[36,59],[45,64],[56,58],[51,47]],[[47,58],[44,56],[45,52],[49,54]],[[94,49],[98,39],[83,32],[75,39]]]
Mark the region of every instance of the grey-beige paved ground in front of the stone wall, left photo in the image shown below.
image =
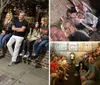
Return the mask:
[[[19,63],[9,67],[10,59],[0,59],[0,85],[48,85],[48,71]]]

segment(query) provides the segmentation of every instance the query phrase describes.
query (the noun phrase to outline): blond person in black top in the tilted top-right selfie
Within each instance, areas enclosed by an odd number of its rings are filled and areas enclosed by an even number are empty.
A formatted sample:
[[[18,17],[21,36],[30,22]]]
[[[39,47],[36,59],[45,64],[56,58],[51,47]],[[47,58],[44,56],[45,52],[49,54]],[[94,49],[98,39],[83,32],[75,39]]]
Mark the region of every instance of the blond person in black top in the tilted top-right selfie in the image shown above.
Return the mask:
[[[64,28],[65,34],[66,33],[69,34],[68,36],[69,41],[89,41],[90,40],[90,37],[88,36],[88,34],[85,31],[77,30],[77,28],[71,21],[67,20],[63,22],[62,26]]]

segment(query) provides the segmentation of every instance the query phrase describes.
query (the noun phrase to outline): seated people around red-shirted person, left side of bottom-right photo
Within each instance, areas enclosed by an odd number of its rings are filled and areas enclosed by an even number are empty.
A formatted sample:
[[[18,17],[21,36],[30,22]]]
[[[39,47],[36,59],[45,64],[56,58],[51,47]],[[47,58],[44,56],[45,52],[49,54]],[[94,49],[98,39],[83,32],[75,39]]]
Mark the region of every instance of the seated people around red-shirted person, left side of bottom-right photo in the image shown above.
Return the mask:
[[[51,85],[58,85],[60,80],[68,80],[69,64],[64,56],[54,55],[52,61],[50,62],[50,81]]]

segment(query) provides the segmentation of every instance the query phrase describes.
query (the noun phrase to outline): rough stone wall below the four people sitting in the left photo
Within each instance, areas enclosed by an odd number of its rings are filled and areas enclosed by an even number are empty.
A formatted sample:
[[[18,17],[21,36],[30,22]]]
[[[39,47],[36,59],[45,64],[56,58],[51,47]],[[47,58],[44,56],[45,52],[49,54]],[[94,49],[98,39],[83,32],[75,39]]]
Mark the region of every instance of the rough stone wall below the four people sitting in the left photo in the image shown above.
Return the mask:
[[[1,55],[1,50],[0,50],[0,55]],[[20,59],[22,62],[27,63],[29,65],[32,66],[36,66],[38,65],[39,67],[45,69],[45,70],[49,70],[49,52],[43,53],[39,56],[39,60],[25,60],[25,59]],[[5,55],[5,59],[10,61],[11,60],[11,55],[9,53],[9,51],[7,50],[6,55]]]

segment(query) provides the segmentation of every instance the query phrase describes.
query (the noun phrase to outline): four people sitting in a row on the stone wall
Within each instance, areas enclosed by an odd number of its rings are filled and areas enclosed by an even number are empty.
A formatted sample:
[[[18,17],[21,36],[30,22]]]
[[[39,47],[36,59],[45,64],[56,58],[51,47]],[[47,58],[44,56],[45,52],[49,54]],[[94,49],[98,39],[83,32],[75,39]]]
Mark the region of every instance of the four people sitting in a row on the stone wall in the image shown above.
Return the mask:
[[[25,12],[23,11],[21,11],[18,18],[15,19],[13,19],[12,12],[6,14],[0,34],[0,56],[5,56],[4,46],[7,44],[8,50],[12,56],[8,66],[15,65],[18,56],[24,58],[31,56],[31,59],[37,59],[42,48],[45,47],[46,51],[48,51],[48,18],[42,17],[40,23],[32,23],[30,27],[25,20]]]

